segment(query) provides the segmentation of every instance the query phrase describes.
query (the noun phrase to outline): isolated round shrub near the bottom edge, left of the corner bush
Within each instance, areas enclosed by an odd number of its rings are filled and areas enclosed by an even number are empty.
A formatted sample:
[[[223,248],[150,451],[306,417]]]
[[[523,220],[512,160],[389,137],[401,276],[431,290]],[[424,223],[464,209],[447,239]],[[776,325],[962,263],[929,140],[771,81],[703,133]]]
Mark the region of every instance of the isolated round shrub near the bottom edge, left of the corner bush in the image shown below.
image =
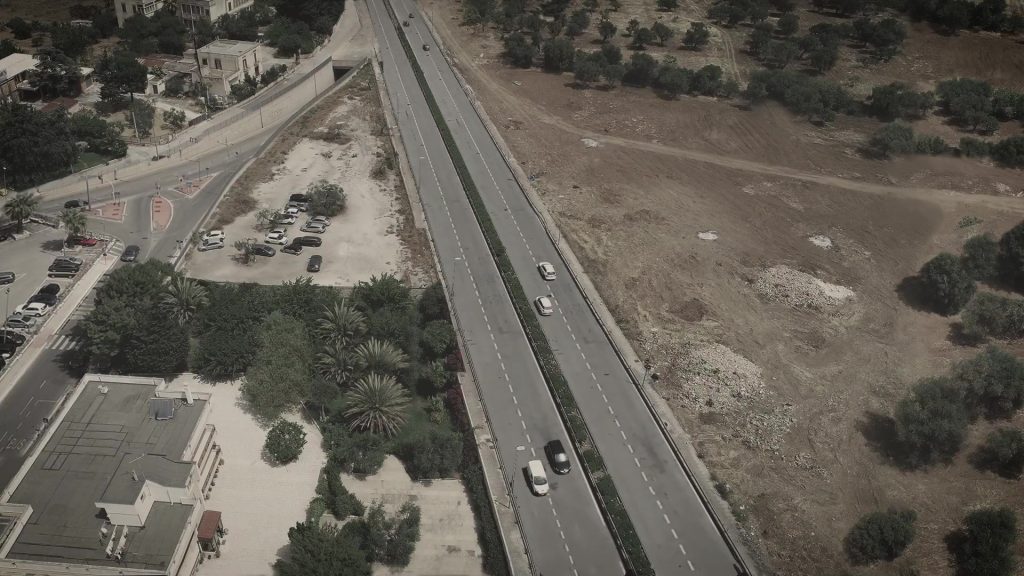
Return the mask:
[[[862,516],[843,540],[846,556],[854,565],[892,562],[913,541],[912,510],[891,509]]]

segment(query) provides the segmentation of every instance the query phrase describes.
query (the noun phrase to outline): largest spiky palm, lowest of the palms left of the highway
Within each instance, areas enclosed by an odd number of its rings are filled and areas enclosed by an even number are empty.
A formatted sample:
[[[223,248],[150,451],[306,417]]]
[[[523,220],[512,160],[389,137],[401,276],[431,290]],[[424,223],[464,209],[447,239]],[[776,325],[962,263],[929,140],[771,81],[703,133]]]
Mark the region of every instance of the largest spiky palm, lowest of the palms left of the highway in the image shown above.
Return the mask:
[[[345,395],[344,414],[354,429],[394,436],[406,423],[409,394],[393,376],[370,374]]]

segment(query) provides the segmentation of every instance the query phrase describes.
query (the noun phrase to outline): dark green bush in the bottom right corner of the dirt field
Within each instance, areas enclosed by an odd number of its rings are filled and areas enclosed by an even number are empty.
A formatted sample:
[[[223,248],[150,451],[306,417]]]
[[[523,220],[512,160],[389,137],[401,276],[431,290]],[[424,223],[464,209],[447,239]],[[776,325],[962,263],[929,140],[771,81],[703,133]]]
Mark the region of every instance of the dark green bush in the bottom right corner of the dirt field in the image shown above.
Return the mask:
[[[1017,517],[1010,508],[981,508],[964,519],[950,548],[958,576],[1010,576],[1014,573]]]

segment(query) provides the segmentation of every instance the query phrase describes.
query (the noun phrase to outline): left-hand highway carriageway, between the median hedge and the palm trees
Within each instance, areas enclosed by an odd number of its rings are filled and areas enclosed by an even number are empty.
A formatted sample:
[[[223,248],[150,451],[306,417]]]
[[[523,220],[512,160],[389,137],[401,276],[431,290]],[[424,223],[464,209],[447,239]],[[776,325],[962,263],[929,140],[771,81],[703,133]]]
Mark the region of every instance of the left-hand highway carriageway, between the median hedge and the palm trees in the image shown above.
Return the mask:
[[[379,57],[402,141],[536,574],[617,575],[624,569],[586,479],[579,469],[550,471],[547,496],[529,493],[522,469],[546,460],[544,444],[568,445],[558,412],[469,200],[427,109],[384,6],[369,2]],[[535,272],[536,274],[536,272]],[[502,505],[502,504],[499,504]]]

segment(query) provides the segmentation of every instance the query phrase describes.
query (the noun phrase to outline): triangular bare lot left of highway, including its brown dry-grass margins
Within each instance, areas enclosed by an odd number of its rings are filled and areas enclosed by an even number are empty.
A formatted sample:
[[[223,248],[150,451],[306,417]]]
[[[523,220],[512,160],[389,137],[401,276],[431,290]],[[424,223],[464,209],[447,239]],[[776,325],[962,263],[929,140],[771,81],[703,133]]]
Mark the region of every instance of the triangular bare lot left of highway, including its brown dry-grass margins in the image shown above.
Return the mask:
[[[371,276],[391,273],[411,285],[428,284],[433,277],[429,245],[423,231],[415,229],[409,200],[393,157],[383,137],[384,122],[374,76],[367,69],[325,102],[300,119],[255,162],[228,192],[210,230],[223,229],[228,245],[220,250],[193,251],[189,274],[197,278],[279,284],[306,276],[310,255],[324,263],[312,274],[317,284],[353,286]],[[284,209],[290,195],[305,191],[321,179],[340,184],[347,208],[332,218],[322,247],[306,247],[298,256],[280,251],[255,262],[236,261],[237,240],[263,242],[267,228],[257,225],[263,208]],[[285,225],[289,238],[304,236],[299,230],[309,214]]]

